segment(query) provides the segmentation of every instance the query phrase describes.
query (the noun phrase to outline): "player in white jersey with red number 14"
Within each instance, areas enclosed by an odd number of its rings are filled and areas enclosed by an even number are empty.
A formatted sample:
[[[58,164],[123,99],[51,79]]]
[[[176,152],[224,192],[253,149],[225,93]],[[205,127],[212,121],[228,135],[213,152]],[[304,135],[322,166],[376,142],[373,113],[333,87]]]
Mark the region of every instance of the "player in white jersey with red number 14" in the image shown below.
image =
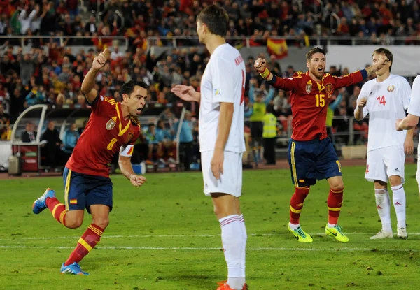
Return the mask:
[[[413,150],[413,131],[395,131],[397,119],[405,117],[409,106],[411,88],[407,80],[391,74],[392,53],[379,48],[373,53],[373,63],[385,55],[384,68],[377,71],[377,78],[363,85],[357,99],[354,117],[360,121],[369,115],[367,141],[367,166],[365,178],[374,182],[374,192],[382,229],[371,239],[393,238],[391,227],[391,202],[388,180],[393,194],[397,215],[398,238],[407,238],[405,225],[404,164],[405,153]]]

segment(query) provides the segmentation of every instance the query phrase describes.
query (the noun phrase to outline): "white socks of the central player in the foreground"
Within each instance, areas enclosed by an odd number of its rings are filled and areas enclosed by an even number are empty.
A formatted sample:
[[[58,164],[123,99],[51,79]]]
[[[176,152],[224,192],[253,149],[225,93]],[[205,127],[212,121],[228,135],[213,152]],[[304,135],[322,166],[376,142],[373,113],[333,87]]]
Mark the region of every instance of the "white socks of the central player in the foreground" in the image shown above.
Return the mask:
[[[241,290],[245,284],[246,228],[244,216],[229,215],[219,219],[222,245],[228,264],[228,282],[232,289]]]

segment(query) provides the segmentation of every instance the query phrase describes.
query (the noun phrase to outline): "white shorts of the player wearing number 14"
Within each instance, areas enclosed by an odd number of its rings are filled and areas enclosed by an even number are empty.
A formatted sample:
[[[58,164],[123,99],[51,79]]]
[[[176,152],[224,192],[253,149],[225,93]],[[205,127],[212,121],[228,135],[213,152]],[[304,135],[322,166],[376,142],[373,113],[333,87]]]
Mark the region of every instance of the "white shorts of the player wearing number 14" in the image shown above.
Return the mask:
[[[404,148],[389,146],[367,152],[367,181],[381,180],[388,182],[388,177],[398,175],[404,180],[405,153]]]

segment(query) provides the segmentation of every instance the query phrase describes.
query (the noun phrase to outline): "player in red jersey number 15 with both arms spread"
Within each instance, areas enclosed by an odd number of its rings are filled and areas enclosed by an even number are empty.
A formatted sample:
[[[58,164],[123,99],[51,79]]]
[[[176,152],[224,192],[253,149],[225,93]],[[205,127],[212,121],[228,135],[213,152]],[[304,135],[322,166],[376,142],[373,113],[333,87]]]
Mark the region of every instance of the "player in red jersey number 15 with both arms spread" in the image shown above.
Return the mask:
[[[268,70],[265,59],[258,58],[255,61],[255,68],[270,85],[292,93],[293,133],[289,141],[288,161],[295,194],[290,199],[288,229],[299,242],[312,242],[311,236],[300,227],[300,212],[309,194],[309,187],[316,184],[316,180],[323,179],[330,184],[325,233],[339,242],[349,242],[338,225],[344,183],[339,159],[327,136],[327,108],[335,89],[361,82],[385,63],[386,57],[381,57],[374,66],[344,77],[335,77],[324,73],[325,50],[313,48],[307,53],[306,73],[298,72],[292,78],[279,78]]]

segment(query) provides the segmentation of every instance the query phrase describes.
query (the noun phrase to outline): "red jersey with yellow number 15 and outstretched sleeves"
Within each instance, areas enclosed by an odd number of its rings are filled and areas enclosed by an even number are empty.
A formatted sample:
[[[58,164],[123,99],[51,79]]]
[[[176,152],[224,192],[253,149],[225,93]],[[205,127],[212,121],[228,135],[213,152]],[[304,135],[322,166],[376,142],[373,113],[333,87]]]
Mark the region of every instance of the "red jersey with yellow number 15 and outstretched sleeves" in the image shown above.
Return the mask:
[[[276,89],[291,91],[292,139],[309,141],[327,138],[327,108],[335,89],[354,85],[362,80],[363,75],[360,71],[343,77],[325,73],[321,83],[313,80],[308,72],[298,72],[292,78],[278,78],[274,75],[274,79],[269,83]]]

